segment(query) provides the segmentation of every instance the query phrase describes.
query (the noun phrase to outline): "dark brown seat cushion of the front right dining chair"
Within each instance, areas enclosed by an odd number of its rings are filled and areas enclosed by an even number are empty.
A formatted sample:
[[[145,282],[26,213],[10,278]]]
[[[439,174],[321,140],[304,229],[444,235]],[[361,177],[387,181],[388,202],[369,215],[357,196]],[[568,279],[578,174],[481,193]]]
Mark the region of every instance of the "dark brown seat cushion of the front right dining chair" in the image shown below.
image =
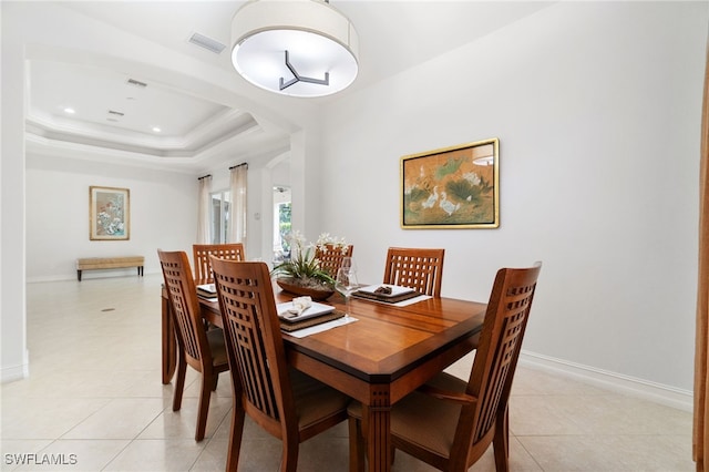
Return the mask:
[[[464,392],[466,387],[463,380],[444,372],[427,383],[450,392]],[[362,406],[352,402],[348,413],[361,420]],[[436,455],[448,456],[460,414],[460,404],[413,391],[392,407],[391,434]]]

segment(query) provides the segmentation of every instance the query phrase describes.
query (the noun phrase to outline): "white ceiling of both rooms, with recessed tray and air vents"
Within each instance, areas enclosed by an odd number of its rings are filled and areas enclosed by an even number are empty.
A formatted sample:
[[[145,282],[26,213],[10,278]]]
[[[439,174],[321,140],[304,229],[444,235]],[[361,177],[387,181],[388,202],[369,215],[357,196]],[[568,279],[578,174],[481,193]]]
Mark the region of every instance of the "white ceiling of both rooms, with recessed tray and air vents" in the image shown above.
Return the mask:
[[[230,64],[229,30],[230,19],[243,1],[56,3],[88,17],[86,21],[105,24],[105,34],[115,28],[242,81]],[[551,2],[332,0],[330,4],[349,17],[358,31],[359,75],[350,89],[327,98],[273,99],[281,100],[282,106],[295,105],[290,102],[294,100],[310,100],[316,106],[340,100]],[[215,54],[192,44],[188,39],[195,32],[227,48]],[[179,161],[192,164],[186,168],[194,172],[208,170],[227,154],[274,154],[287,148],[288,130],[257,117],[255,110],[205,99],[188,88],[145,81],[123,70],[110,60],[81,64],[56,58],[33,59],[27,119],[30,137],[45,147],[97,147],[103,153],[121,153],[145,162]],[[145,86],[131,84],[130,80]],[[258,100],[260,93],[254,92],[249,99]],[[65,107],[75,113],[68,114]],[[155,126],[161,131],[153,131]]]

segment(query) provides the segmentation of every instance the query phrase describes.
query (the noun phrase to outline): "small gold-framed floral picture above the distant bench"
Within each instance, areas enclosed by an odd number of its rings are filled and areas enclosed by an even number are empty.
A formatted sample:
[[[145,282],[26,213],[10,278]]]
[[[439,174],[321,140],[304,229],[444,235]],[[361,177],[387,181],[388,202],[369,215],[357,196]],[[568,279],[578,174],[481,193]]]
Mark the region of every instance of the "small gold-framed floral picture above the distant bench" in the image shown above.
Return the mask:
[[[89,187],[89,239],[126,240],[131,238],[131,191],[115,187]]]

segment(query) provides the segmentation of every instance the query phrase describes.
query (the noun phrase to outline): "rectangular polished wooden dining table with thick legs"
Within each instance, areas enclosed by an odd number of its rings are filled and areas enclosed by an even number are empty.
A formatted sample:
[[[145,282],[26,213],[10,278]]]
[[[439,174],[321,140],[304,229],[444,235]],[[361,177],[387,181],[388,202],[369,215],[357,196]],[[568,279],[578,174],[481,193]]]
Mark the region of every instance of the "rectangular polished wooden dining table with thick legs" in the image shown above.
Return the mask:
[[[295,295],[275,289],[276,302]],[[357,319],[298,338],[282,334],[288,362],[363,406],[370,471],[391,469],[391,406],[477,347],[486,305],[428,298],[394,306],[335,294],[322,301]],[[202,314],[222,325],[216,301],[202,299]],[[163,290],[163,383],[175,370],[175,335]],[[351,459],[350,459],[351,460]]]

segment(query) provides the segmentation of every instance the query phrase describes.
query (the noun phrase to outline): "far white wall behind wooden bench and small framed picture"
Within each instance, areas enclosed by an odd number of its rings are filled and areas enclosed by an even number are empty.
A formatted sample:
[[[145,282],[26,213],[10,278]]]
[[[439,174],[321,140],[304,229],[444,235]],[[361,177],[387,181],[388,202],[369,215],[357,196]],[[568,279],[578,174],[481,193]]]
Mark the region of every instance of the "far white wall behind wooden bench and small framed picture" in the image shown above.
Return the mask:
[[[91,185],[130,189],[129,240],[89,239]],[[160,274],[158,248],[192,255],[197,193],[194,175],[28,155],[28,281],[75,278],[78,257],[141,255],[145,256],[144,271]],[[136,270],[90,270],[82,279],[125,274]]]

